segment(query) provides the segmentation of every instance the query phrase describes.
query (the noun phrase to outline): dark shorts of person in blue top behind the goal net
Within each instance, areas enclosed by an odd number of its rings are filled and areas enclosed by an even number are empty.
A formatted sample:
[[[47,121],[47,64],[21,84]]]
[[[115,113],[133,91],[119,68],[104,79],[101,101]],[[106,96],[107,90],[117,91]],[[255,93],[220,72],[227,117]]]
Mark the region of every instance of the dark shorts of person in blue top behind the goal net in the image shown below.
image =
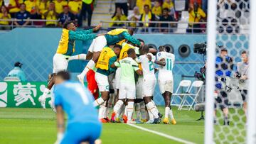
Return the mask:
[[[225,91],[220,91],[217,99],[215,99],[214,108],[217,108],[217,105],[220,106],[220,109],[228,108],[228,94]]]

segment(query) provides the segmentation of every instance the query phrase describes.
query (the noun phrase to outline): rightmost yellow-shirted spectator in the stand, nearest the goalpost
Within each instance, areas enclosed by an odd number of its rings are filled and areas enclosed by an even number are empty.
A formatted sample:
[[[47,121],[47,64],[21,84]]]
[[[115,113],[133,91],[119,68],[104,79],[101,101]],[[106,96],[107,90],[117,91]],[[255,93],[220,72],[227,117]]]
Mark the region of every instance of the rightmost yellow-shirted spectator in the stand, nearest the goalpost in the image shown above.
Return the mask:
[[[193,31],[193,33],[201,33],[201,24],[193,24],[193,23],[203,21],[203,18],[206,18],[206,13],[203,12],[203,10],[198,7],[197,3],[190,5],[188,12],[189,12],[189,20],[188,20],[189,28],[187,32],[191,33]]]

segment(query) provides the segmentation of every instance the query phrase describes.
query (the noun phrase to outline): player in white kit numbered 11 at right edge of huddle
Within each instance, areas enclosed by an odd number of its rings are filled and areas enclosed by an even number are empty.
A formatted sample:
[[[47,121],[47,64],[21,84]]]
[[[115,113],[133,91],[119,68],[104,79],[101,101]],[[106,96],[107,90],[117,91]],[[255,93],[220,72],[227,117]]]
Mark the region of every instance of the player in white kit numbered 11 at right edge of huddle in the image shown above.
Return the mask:
[[[159,47],[159,52],[156,54],[157,60],[155,63],[160,65],[159,67],[159,88],[165,101],[165,114],[163,122],[169,124],[169,116],[171,117],[171,123],[176,124],[173,112],[171,110],[171,94],[174,91],[174,77],[172,70],[174,68],[175,55],[166,52],[164,46]]]

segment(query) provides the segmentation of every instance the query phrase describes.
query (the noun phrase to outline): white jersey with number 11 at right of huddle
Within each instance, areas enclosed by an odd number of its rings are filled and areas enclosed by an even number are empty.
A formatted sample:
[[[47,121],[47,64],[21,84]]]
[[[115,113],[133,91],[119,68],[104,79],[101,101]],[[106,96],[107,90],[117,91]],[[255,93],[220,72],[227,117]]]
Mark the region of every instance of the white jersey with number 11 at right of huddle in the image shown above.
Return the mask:
[[[175,55],[169,52],[158,52],[157,60],[164,59],[166,65],[159,66],[159,79],[161,80],[173,80],[172,70],[174,68]]]

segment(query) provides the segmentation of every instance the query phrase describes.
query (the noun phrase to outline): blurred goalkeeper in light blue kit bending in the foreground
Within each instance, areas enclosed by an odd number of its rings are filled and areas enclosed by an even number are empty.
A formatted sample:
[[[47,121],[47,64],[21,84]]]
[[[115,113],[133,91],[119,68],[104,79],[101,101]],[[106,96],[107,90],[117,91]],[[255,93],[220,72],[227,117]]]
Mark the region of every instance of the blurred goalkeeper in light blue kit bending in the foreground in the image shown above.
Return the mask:
[[[97,110],[92,105],[90,92],[82,84],[71,82],[70,74],[65,71],[55,74],[55,84],[53,94],[58,128],[55,143],[95,143],[100,138],[102,124],[97,119]],[[66,128],[64,111],[68,115]]]

